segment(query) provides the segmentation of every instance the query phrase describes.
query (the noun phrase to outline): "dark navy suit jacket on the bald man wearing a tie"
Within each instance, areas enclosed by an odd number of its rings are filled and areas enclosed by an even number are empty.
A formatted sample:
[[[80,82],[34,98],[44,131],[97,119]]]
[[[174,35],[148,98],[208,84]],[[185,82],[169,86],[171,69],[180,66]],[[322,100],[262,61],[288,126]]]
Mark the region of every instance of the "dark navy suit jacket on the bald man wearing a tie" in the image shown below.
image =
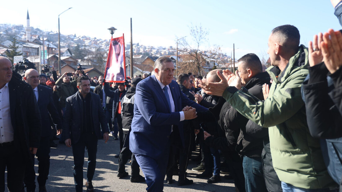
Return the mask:
[[[38,85],[38,101],[40,116],[42,118],[41,136],[51,135],[51,118],[57,129],[62,129],[62,120],[52,99],[52,89]],[[50,117],[51,116],[51,117]]]

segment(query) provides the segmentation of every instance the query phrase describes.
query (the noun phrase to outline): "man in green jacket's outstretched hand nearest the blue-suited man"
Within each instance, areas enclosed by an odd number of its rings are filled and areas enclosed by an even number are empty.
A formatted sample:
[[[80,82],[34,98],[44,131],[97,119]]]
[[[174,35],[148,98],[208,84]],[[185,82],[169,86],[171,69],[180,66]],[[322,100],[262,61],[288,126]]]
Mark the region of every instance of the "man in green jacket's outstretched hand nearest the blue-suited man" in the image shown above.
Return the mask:
[[[228,87],[227,79],[217,71],[216,74],[220,77],[221,81],[218,83],[210,83],[205,79],[199,80],[199,87],[204,90],[205,93],[210,95],[222,96],[224,90]]]

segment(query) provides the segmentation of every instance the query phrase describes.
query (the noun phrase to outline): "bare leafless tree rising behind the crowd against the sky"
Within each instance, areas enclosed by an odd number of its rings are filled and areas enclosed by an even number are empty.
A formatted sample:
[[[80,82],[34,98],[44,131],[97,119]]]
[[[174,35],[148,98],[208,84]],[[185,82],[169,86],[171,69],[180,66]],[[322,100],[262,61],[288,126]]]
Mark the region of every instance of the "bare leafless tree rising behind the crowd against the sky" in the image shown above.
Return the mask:
[[[188,57],[183,57],[180,62],[180,71],[189,70],[194,74],[204,75],[203,65],[208,59],[213,59],[221,51],[218,45],[205,47],[208,43],[207,36],[209,32],[203,29],[202,26],[190,26],[190,41],[186,38],[179,40],[179,45],[182,51],[186,52]],[[202,50],[201,50],[202,48]],[[184,69],[183,69],[184,68]],[[187,72],[189,72],[187,71]]]

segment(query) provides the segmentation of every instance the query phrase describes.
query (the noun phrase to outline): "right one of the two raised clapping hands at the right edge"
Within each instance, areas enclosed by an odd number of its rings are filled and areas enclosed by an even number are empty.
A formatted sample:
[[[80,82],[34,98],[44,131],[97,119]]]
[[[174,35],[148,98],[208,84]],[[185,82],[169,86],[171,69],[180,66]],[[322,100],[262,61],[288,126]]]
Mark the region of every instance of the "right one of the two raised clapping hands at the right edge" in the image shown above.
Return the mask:
[[[330,38],[329,38],[330,36]],[[335,73],[342,65],[342,34],[340,31],[329,29],[323,35],[320,42],[324,64],[331,74]]]

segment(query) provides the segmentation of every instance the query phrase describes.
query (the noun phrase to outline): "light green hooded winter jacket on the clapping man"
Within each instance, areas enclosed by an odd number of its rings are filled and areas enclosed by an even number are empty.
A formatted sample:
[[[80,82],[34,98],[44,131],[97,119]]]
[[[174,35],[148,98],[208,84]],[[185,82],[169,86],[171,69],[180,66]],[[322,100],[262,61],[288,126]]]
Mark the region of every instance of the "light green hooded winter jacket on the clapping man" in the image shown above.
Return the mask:
[[[301,97],[307,67],[308,50],[301,45],[282,73],[277,67],[267,69],[273,82],[265,101],[235,87],[228,87],[223,97],[242,115],[269,128],[273,166],[281,181],[304,189],[334,187],[319,140],[310,135],[307,127]]]

